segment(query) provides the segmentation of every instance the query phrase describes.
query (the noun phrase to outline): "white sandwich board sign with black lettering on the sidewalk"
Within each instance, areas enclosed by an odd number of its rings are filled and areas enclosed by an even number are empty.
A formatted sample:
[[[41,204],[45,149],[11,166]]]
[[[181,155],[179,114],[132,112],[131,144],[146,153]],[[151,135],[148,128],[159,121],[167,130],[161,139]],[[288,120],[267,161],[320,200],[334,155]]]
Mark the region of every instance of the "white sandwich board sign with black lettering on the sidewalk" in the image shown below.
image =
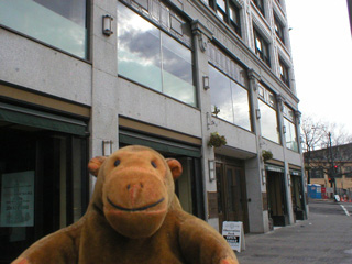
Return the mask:
[[[243,223],[234,221],[222,222],[222,235],[230,244],[231,249],[241,252],[245,250]]]

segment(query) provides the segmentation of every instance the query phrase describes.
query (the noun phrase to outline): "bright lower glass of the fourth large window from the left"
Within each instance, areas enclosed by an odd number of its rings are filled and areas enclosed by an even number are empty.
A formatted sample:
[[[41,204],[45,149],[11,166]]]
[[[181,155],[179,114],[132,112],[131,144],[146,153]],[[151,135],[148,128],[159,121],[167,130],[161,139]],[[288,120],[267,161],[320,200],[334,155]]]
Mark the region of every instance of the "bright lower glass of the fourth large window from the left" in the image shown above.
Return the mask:
[[[258,101],[258,106],[261,109],[262,135],[271,141],[279,143],[276,111],[262,100]]]

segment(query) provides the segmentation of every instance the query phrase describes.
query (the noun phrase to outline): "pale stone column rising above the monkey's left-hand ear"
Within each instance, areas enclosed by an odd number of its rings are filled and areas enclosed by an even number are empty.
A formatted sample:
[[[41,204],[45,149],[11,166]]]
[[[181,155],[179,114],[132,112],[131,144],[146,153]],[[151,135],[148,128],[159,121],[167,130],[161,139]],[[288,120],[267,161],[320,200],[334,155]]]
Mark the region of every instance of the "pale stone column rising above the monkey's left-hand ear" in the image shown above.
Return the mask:
[[[113,18],[110,36],[102,34],[102,16]],[[90,57],[91,119],[90,157],[102,155],[102,142],[110,141],[118,148],[118,62],[117,62],[117,3],[114,0],[91,1]],[[91,180],[94,189],[95,179]]]

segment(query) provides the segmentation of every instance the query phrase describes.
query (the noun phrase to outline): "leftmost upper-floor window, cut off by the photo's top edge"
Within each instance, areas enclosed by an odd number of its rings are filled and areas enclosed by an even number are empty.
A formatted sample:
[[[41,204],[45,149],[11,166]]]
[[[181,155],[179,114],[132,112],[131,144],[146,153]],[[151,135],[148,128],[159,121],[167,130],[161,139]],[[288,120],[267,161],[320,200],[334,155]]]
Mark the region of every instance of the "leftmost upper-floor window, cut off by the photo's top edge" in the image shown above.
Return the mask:
[[[241,36],[240,8],[233,0],[208,0],[208,4],[217,14]]]

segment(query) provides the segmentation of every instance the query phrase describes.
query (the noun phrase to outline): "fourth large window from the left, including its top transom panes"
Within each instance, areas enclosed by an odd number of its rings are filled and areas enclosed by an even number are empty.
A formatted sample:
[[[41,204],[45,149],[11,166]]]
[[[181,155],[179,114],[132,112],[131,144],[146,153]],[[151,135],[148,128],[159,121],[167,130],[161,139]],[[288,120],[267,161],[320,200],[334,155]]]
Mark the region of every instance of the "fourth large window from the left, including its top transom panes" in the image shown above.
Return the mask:
[[[280,143],[275,96],[263,86],[258,87],[258,91],[262,135],[271,141]]]

